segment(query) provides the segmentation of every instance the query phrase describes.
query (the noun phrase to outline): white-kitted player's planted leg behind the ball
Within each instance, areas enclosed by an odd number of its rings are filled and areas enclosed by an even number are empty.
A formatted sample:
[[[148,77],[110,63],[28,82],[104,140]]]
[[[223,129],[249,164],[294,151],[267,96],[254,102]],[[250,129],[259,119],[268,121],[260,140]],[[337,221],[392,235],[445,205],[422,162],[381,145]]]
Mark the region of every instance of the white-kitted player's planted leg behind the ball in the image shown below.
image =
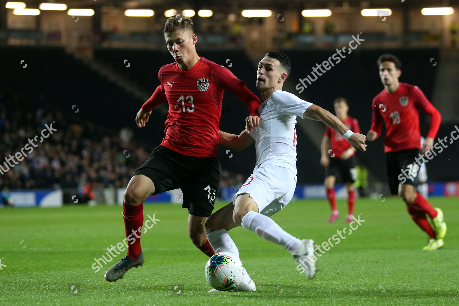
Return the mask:
[[[218,211],[213,213],[205,224],[205,230],[207,233],[207,239],[210,245],[218,252],[230,252],[239,257],[239,250],[233,239],[228,234],[231,228],[235,228],[238,225],[233,221],[233,203],[229,203],[227,206],[220,208]],[[250,278],[249,274],[244,268],[241,284],[235,289],[229,291],[256,291],[257,287]],[[224,292],[217,289],[211,289],[209,292]]]

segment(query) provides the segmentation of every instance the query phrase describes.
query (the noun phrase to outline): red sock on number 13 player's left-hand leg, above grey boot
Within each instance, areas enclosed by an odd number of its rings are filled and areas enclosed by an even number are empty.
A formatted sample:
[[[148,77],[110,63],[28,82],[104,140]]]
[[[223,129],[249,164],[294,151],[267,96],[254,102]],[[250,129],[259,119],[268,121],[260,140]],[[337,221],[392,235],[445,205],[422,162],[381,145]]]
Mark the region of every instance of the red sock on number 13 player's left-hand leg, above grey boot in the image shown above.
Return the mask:
[[[136,259],[142,248],[140,247],[140,234],[143,225],[143,204],[131,206],[123,201],[124,228],[128,244],[128,255]]]

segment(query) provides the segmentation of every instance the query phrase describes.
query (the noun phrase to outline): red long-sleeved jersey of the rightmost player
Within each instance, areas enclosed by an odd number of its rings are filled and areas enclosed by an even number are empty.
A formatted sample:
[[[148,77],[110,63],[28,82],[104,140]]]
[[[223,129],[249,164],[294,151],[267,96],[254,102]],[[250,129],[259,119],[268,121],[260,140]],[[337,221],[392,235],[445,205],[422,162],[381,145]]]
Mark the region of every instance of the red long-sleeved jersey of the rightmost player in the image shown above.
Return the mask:
[[[378,133],[379,137],[384,120],[386,123],[385,152],[420,149],[418,109],[431,116],[427,137],[435,138],[442,117],[419,87],[400,83],[394,93],[388,94],[386,89],[383,89],[375,96],[370,130]]]

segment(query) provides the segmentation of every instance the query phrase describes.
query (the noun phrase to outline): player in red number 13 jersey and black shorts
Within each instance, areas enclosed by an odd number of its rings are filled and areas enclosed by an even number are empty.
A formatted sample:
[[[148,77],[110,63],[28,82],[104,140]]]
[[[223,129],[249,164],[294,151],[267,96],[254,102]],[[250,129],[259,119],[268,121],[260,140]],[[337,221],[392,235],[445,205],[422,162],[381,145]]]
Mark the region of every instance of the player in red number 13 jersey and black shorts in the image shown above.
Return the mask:
[[[161,84],[141,107],[135,121],[139,128],[145,127],[151,110],[167,101],[165,137],[150,158],[134,172],[124,192],[128,255],[105,273],[109,282],[123,278],[130,268],[143,265],[145,259],[140,247],[144,220],[142,203],[148,196],[168,190],[182,189],[182,207],[189,213],[190,239],[207,256],[214,254],[206,238],[204,223],[212,213],[222,179],[217,147],[224,90],[229,90],[247,105],[252,116],[248,127],[258,126],[260,120],[257,117],[260,100],[246,83],[227,68],[197,55],[197,37],[190,18],[170,17],[163,33],[175,62],[159,70]]]

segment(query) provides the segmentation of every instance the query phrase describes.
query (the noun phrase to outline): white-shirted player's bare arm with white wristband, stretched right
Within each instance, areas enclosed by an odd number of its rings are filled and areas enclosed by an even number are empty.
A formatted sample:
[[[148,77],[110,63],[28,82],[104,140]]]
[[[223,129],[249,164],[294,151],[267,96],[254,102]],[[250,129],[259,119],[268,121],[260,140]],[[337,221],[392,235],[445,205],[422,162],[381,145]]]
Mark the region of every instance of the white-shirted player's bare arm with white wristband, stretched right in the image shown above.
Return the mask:
[[[327,126],[343,135],[344,139],[346,139],[356,150],[366,151],[365,148],[367,145],[365,145],[365,135],[354,133],[348,129],[341,120],[330,113],[330,111],[314,104],[309,106],[304,112],[303,118],[324,122]]]

